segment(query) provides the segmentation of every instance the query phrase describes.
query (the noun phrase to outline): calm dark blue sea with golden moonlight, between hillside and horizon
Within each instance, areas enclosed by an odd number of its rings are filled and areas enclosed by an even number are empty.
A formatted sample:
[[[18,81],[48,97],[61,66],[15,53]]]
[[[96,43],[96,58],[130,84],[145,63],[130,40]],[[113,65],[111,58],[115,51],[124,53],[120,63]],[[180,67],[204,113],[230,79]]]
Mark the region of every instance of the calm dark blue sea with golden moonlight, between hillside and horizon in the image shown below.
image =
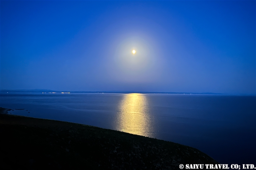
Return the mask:
[[[255,96],[2,93],[0,99],[0,107],[25,109],[11,114],[139,134],[195,147],[223,164],[256,165]]]

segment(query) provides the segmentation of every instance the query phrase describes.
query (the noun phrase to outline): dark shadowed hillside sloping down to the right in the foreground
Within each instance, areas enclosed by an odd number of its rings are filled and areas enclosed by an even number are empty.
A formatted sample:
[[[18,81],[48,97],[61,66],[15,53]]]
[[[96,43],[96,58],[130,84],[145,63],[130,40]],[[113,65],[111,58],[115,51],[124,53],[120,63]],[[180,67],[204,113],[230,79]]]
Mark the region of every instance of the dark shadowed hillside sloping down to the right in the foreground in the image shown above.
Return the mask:
[[[173,142],[0,111],[0,169],[180,169],[180,164],[218,163]]]

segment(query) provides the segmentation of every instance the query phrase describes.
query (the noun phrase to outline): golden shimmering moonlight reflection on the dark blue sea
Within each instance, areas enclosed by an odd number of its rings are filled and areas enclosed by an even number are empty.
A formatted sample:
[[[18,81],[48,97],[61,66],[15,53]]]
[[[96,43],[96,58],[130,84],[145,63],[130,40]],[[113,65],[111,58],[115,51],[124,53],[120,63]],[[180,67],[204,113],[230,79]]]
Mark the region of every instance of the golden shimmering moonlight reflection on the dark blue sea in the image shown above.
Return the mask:
[[[119,131],[155,137],[149,114],[147,96],[139,93],[124,95],[119,103],[116,129]]]

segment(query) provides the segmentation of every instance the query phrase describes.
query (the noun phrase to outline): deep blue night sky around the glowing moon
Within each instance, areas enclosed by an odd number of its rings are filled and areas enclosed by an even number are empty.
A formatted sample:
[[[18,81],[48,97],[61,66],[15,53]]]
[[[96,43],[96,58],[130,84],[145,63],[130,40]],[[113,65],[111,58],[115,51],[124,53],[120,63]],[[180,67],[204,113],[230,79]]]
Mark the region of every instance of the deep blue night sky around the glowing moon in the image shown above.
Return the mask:
[[[1,1],[0,88],[255,94],[255,7]]]

